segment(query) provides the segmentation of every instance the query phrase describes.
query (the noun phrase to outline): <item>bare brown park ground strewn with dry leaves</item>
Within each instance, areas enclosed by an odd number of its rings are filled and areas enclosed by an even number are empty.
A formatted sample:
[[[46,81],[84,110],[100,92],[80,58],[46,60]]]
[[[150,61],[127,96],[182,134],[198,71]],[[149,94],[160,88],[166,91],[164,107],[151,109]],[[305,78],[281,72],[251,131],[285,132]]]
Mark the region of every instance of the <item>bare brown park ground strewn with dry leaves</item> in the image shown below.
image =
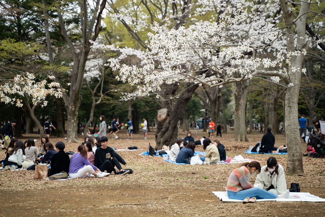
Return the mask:
[[[55,181],[34,180],[31,170],[0,170],[0,216],[325,216],[325,203],[222,203],[212,191],[225,190],[235,164],[191,166],[163,162],[162,157],[140,155],[147,150],[149,142],[155,145],[154,132],[149,133],[148,140],[142,140],[143,136],[137,134],[129,141],[125,134],[122,130],[121,139],[109,143],[119,149],[134,145],[143,149],[118,152],[127,162],[125,168],[133,169],[134,174]],[[195,140],[203,135],[207,133],[193,133]],[[37,137],[31,134],[20,139],[39,140]],[[250,145],[261,140],[262,134],[254,132],[248,137],[250,142],[235,142],[230,132],[218,139],[225,145],[227,156],[241,154],[265,165],[270,155],[244,154]],[[276,146],[286,143],[283,135],[275,137]],[[64,139],[50,138],[53,144],[57,141]],[[78,145],[66,144],[65,151],[76,152]],[[303,143],[302,149],[305,148]],[[0,151],[0,159],[5,158],[4,153]],[[285,169],[287,156],[275,157]],[[286,174],[287,188],[292,182],[299,183],[301,192],[325,198],[325,158],[304,157],[303,161],[305,174]],[[251,178],[251,183],[254,180],[255,177]]]

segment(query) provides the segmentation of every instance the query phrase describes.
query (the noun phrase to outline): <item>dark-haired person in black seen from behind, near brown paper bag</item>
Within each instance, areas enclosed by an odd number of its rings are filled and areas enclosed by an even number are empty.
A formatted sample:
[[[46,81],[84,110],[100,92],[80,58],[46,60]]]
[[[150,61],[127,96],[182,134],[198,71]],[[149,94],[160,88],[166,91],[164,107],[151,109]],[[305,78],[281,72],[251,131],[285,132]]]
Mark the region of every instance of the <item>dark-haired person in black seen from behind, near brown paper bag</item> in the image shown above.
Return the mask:
[[[55,147],[58,153],[52,156],[51,169],[47,171],[47,176],[51,176],[62,171],[69,174],[70,157],[64,152],[65,144],[63,142],[57,142]]]

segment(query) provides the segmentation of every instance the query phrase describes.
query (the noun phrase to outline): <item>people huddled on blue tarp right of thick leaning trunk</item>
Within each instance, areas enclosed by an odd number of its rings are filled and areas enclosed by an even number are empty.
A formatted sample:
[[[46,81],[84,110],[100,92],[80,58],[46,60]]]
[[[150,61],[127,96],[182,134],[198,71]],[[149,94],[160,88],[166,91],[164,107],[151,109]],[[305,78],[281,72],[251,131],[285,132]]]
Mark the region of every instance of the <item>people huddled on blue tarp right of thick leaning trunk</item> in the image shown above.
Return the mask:
[[[191,157],[194,156],[196,144],[193,141],[187,143],[187,138],[178,139],[177,142],[172,145],[169,153],[169,160],[176,163],[190,163]],[[185,144],[185,145],[184,145]],[[225,146],[214,140],[211,142],[208,138],[202,140],[203,149],[205,155],[200,155],[200,159],[205,163],[217,163],[218,161],[225,161],[227,159]]]

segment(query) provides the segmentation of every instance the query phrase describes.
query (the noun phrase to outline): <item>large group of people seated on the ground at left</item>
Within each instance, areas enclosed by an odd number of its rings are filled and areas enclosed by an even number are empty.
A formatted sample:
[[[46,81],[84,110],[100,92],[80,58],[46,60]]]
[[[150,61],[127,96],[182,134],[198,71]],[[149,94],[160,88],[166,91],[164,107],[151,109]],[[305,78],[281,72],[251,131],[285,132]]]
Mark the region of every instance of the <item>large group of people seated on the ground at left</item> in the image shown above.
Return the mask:
[[[54,150],[46,135],[41,141],[39,153],[33,139],[23,143],[13,138],[6,148],[6,158],[1,163],[4,163],[4,166],[17,165],[18,168],[27,170],[34,169],[35,162],[49,163],[51,168],[48,170],[48,176],[64,171],[71,178],[81,178],[87,173],[103,177],[109,174],[125,175],[130,172],[128,169],[122,169],[121,164],[125,166],[126,162],[108,146],[106,136],[95,139],[87,136],[85,142],[78,146],[77,153],[71,157],[64,151],[63,142],[57,142]]]

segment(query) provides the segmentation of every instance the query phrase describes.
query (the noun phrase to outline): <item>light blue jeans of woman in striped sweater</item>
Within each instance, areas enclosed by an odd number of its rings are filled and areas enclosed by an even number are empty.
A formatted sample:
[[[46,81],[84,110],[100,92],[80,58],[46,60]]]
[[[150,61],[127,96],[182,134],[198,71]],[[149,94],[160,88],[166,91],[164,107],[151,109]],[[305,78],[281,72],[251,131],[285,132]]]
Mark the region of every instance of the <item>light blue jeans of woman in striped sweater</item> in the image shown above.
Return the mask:
[[[256,199],[276,199],[278,195],[272,194],[262,188],[250,188],[246,190],[241,190],[239,192],[233,192],[227,190],[227,195],[229,199],[243,200],[246,197]]]

